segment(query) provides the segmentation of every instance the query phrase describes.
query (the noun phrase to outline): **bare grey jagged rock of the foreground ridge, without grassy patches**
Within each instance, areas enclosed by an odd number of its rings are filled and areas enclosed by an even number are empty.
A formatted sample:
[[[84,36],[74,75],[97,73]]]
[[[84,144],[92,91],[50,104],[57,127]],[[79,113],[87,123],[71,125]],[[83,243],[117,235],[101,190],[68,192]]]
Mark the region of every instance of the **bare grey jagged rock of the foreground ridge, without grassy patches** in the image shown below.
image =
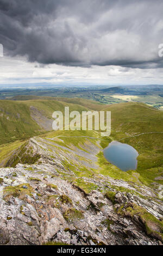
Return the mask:
[[[82,150],[82,147],[85,147],[87,152]],[[100,150],[99,146],[87,141],[81,149],[74,145],[66,148],[55,143],[54,139],[34,137],[28,141],[26,149],[32,149],[30,156],[40,156],[34,164],[21,162],[15,168],[1,168],[3,183],[0,184],[0,243],[2,245],[42,245],[48,241],[70,245],[96,245],[100,242],[105,245],[161,243],[157,238],[154,239],[146,234],[139,217],[135,216],[134,220],[131,220],[129,216],[124,217],[117,213],[126,204],[134,203],[146,209],[158,220],[161,219],[162,202],[155,197],[152,188],[112,179],[102,174],[80,177],[85,184],[91,183],[93,187],[97,187],[90,193],[86,193],[73,183],[73,180],[79,177],[71,168],[67,168],[64,162],[67,161],[71,166],[70,159],[73,159],[77,171],[80,171],[81,166],[89,169],[90,172],[92,168],[98,169],[96,154]],[[14,161],[17,153],[18,151],[12,155],[10,163]],[[17,174],[14,181],[5,178],[12,173]],[[44,176],[47,178],[43,179]],[[3,200],[4,187],[20,184],[29,184],[32,191],[23,185],[27,194],[25,192],[18,196],[12,194],[8,200]],[[48,184],[54,184],[57,189],[49,189]],[[137,193],[118,192],[118,187]],[[113,205],[111,200],[104,196],[106,190],[116,191],[116,204]],[[63,195],[71,199],[69,203],[61,202],[60,198]],[[148,197],[154,199],[149,200]],[[76,209],[82,214],[82,218],[76,217],[75,214],[70,217],[67,214],[70,209]],[[109,227],[108,223],[110,223]]]

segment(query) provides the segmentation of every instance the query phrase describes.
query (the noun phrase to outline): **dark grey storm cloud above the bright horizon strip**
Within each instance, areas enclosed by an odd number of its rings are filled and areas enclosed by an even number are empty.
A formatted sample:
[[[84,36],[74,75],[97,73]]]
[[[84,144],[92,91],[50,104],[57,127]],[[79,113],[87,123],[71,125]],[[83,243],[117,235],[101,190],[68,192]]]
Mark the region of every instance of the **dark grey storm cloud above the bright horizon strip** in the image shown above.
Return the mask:
[[[162,10],[161,0],[0,0],[0,43],[42,64],[160,68]]]

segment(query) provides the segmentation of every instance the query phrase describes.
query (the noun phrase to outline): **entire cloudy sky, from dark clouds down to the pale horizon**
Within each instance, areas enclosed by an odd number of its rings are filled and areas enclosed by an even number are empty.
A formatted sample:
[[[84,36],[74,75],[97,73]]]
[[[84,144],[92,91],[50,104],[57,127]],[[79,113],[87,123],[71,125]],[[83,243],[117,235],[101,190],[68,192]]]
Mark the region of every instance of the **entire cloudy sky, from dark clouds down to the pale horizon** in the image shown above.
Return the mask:
[[[0,0],[0,84],[163,84],[162,10],[162,0]]]

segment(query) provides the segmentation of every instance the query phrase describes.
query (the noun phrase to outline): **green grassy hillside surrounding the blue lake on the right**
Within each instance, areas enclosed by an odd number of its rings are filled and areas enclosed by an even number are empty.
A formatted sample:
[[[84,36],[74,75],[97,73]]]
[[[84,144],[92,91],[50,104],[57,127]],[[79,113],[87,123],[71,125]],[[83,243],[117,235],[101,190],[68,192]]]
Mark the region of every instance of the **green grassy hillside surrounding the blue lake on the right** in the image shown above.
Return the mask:
[[[107,107],[105,110],[111,111],[112,129],[108,142],[102,142],[105,148],[113,140],[121,140],[121,143],[127,143],[133,146],[139,153],[137,157],[137,170],[121,172],[115,166],[108,163],[103,154],[99,155],[103,174],[109,174],[114,178],[128,179],[127,174],[137,177],[140,182],[151,185],[153,181],[162,184],[161,180],[154,180],[156,176],[163,173],[163,133],[149,133],[136,137],[130,137],[142,132],[163,132],[163,113],[148,108],[142,103],[120,103]],[[127,138],[126,138],[127,137]],[[129,137],[129,138],[128,138]]]

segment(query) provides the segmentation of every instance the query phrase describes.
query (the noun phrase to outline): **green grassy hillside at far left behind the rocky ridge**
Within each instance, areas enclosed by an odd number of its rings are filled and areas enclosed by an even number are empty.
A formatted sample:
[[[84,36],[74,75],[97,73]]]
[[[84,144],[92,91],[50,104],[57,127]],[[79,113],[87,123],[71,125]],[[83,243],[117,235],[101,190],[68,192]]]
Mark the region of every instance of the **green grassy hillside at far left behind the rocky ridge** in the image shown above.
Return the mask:
[[[26,139],[45,132],[32,119],[30,106],[34,106],[44,117],[49,119],[52,118],[54,111],[64,113],[65,106],[69,106],[70,111],[82,112],[87,110],[84,106],[55,100],[0,100],[0,144]]]

